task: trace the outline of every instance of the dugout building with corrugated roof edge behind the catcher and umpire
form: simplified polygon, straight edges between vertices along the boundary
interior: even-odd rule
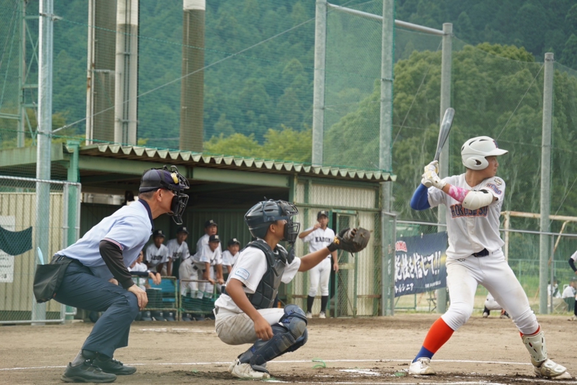
[[[187,242],[191,253],[195,252],[196,242],[204,234],[207,219],[218,223],[223,247],[233,237],[243,245],[249,242],[250,233],[243,215],[265,197],[283,199],[297,205],[297,221],[301,223],[301,231],[313,226],[319,210],[329,210],[329,227],[336,231],[348,226],[362,226],[372,231],[369,247],[356,258],[348,253],[339,253],[341,270],[336,276],[333,273],[331,278],[329,312],[337,317],[382,314],[381,264],[385,249],[382,247],[382,227],[385,214],[381,210],[380,196],[383,182],[394,181],[394,175],[139,146],[52,143],[52,175],[68,175],[71,182],[80,182],[82,196],[124,196],[127,191],[137,196],[143,170],[164,165],[177,166],[190,182],[187,191],[190,200],[183,221],[190,230]],[[0,151],[0,175],[15,175],[15,169],[18,170],[17,175],[34,177],[36,147]],[[6,184],[6,181],[2,183]],[[33,206],[33,201],[33,196],[22,196],[14,189],[0,192],[2,215],[13,215],[16,228],[19,228],[18,222],[21,222],[20,227],[34,224],[34,210],[21,209]],[[65,242],[62,233],[71,227],[65,217],[57,214],[59,205],[64,201],[66,197],[62,189],[53,189],[50,255],[62,248]],[[78,235],[82,236],[118,208],[119,205],[80,203]],[[168,235],[166,242],[174,237],[177,225],[171,217],[163,215],[155,220],[155,228],[161,228]],[[32,228],[32,231],[35,229]],[[308,246],[297,240],[297,256],[307,252]],[[3,293],[0,298],[0,321],[14,317],[15,312],[24,314],[22,317],[26,319],[25,313],[29,312],[33,301],[31,279],[34,275],[34,255],[31,250],[15,256],[13,282],[0,282],[0,292]],[[283,302],[306,307],[306,273],[297,275],[289,285],[283,284],[280,290]],[[316,300],[313,314],[318,313],[319,306],[320,300]]]

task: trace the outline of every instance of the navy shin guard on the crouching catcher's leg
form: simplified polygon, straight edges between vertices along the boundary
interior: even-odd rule
[[[306,343],[306,322],[306,315],[300,307],[287,305],[279,324],[271,326],[273,337],[268,341],[257,340],[250,349],[238,356],[239,361],[250,363],[254,370],[266,372],[266,362],[288,351],[295,351]]]

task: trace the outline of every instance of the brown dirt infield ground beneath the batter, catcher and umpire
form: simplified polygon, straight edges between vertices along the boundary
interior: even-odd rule
[[[508,319],[473,315],[434,357],[434,377],[406,374],[436,314],[371,319],[312,319],[308,343],[269,363],[274,380],[290,384],[527,384],[527,350]],[[550,358],[577,375],[577,323],[567,316],[539,317]],[[64,365],[92,324],[0,326],[0,384],[57,384]],[[116,384],[247,384],[227,372],[248,345],[218,339],[213,321],[135,322],[129,347],[115,358],[138,365]],[[315,361],[313,361],[315,360]],[[324,368],[323,368],[324,366]],[[539,381],[541,384],[577,384]]]

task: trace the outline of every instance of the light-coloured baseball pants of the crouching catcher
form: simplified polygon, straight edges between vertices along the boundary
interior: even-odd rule
[[[285,310],[278,307],[261,309],[257,312],[266,319],[269,325],[278,324],[278,321],[285,314]],[[215,329],[216,335],[225,344],[253,344],[258,340],[255,323],[245,313],[233,313],[219,309],[215,317]]]

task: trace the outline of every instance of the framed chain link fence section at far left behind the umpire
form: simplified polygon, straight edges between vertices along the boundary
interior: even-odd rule
[[[0,324],[64,321],[66,307],[36,304],[32,286],[36,264],[77,239],[79,208],[78,183],[0,175]]]

